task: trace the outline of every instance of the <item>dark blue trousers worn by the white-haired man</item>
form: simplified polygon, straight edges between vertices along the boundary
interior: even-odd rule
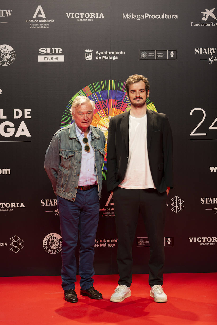
[[[60,212],[60,228],[62,235],[62,288],[75,289],[76,258],[75,248],[80,240],[79,275],[80,287],[83,290],[93,285],[93,259],[96,231],[99,221],[98,188],[87,191],[77,190],[75,201],[57,196],[57,208]]]

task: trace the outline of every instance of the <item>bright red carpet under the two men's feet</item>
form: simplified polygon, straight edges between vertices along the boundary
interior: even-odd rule
[[[78,303],[63,299],[61,277],[2,277],[1,325],[152,324],[216,325],[217,279],[215,273],[165,274],[167,303],[149,296],[147,274],[133,275],[131,297],[111,303],[117,275],[97,275],[94,287],[102,300],[80,296],[79,277],[75,291]]]

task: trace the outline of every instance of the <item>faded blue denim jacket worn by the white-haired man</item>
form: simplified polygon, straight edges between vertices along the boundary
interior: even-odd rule
[[[90,144],[94,150],[99,199],[102,190],[102,164],[105,155],[105,136],[101,129],[91,125]],[[45,156],[45,170],[54,193],[75,201],[81,168],[82,146],[75,132],[75,123],[55,133]]]

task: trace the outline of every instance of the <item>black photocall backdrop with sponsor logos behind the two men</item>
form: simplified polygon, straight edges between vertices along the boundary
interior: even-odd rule
[[[166,113],[173,131],[175,188],[167,200],[164,271],[216,271],[214,8],[213,0],[1,1],[1,276],[60,274],[61,232],[44,171],[46,149],[71,123],[69,105],[78,94],[95,100],[93,123],[107,135],[110,116],[129,109],[124,83],[133,73],[148,77],[149,109]],[[95,273],[115,274],[115,209],[105,180],[100,209]],[[133,273],[148,273],[148,245],[140,218]]]

